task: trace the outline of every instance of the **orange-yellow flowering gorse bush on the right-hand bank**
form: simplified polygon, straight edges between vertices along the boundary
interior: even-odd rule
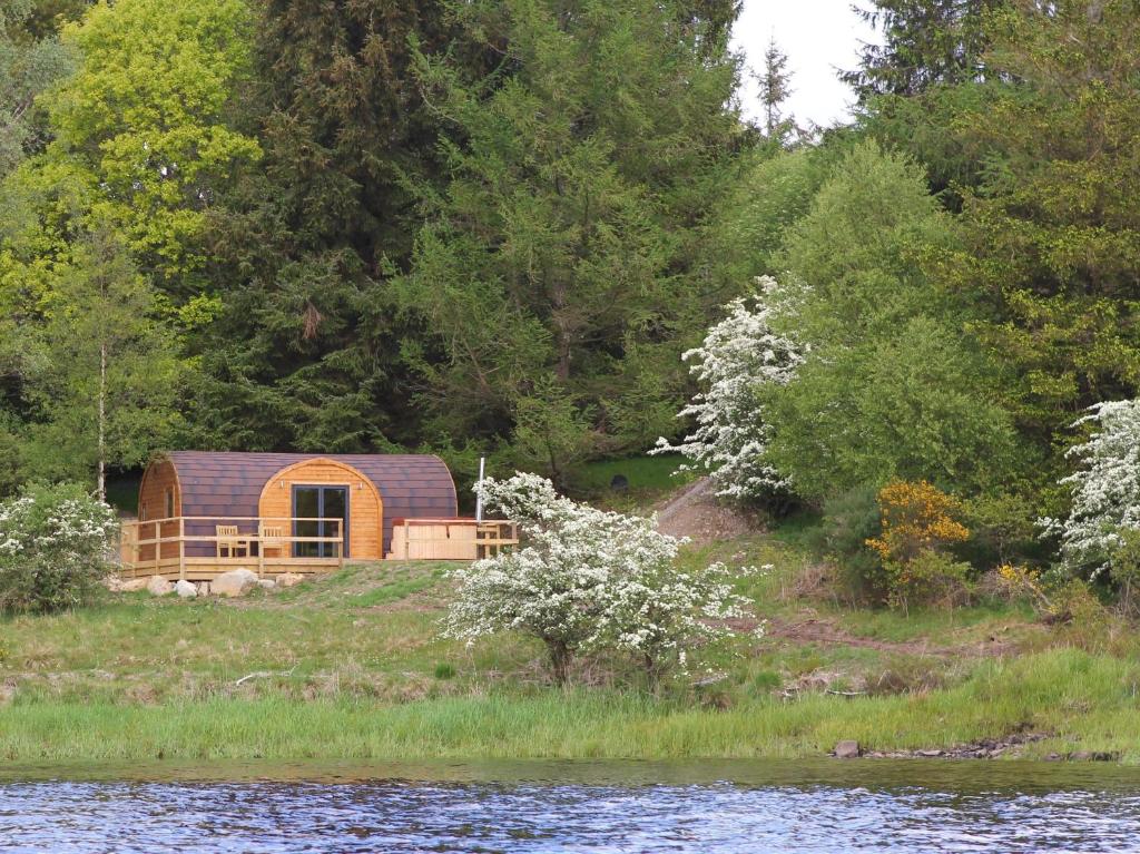
[[[969,529],[954,517],[961,503],[925,480],[895,480],[879,490],[882,529],[866,540],[888,563],[905,563],[922,552],[961,543]]]

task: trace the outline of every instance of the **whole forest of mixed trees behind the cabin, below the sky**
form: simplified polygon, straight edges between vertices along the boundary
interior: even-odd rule
[[[775,513],[925,483],[993,563],[1069,517],[1096,569],[1140,6],[865,6],[855,116],[805,128],[776,44],[746,119],[734,0],[6,0],[0,496],[190,447],[573,491],[658,446]]]

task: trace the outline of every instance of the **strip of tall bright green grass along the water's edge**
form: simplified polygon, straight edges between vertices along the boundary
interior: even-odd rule
[[[0,710],[8,761],[213,758],[697,758],[820,756],[841,739],[869,748],[945,747],[1048,732],[1031,755],[1114,750],[1140,762],[1140,665],[1052,650],[977,666],[925,694],[807,694],[728,710],[646,694],[544,690],[402,705],[365,700],[209,699],[163,706],[16,702]]]

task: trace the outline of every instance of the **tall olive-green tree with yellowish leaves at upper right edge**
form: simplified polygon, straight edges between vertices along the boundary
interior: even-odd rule
[[[984,169],[963,244],[928,268],[984,308],[974,328],[1015,371],[999,388],[1048,480],[1074,413],[1140,383],[1135,19],[1123,0],[1010,3],[990,22],[987,97],[943,127]]]

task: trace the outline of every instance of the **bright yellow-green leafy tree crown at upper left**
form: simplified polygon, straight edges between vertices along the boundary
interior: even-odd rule
[[[106,223],[171,295],[203,288],[204,211],[234,164],[259,153],[226,123],[249,25],[241,0],[123,0],[64,27],[80,63],[42,99],[55,139],[9,190],[30,209],[13,236],[15,275],[66,261],[71,235]]]

